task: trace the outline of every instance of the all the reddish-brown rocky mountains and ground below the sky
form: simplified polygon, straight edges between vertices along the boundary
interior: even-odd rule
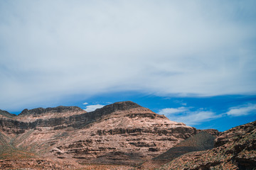
[[[256,121],[196,130],[131,101],[0,111],[0,169],[254,169],[255,146]]]

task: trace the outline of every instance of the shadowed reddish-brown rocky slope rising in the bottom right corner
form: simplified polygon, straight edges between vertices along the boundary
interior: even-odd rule
[[[214,145],[207,151],[183,154],[160,169],[255,169],[256,121],[221,133]]]

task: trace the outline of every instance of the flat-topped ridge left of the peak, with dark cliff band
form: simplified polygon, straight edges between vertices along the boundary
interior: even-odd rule
[[[86,111],[75,106],[25,109],[15,117],[5,116],[0,118],[0,130],[9,135],[19,135],[26,132],[26,130],[43,127],[53,129],[79,127],[90,120],[90,115],[82,116],[85,113]]]

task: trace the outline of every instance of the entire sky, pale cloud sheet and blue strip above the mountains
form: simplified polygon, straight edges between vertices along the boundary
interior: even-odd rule
[[[228,130],[256,119],[256,1],[0,1],[0,109],[134,101]]]

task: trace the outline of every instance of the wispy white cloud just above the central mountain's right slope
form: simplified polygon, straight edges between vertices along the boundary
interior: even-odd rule
[[[216,115],[212,111],[204,111],[199,108],[197,111],[191,111],[190,108],[164,108],[159,111],[159,114],[166,115],[172,121],[185,123],[186,125],[198,125],[215,118],[220,118],[222,115]]]

